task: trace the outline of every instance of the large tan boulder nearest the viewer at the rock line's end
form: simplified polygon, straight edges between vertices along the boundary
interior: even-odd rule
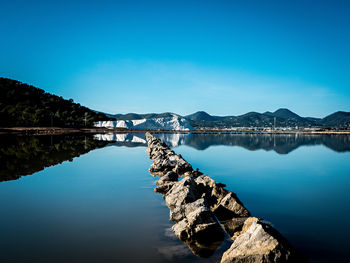
[[[233,239],[221,263],[305,262],[281,234],[256,217],[248,218]]]

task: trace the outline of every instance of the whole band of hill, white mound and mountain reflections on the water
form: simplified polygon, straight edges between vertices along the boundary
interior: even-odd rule
[[[240,146],[247,150],[288,154],[300,146],[324,145],[336,152],[350,151],[350,135],[306,134],[155,134],[170,147],[187,145],[205,150],[215,145]],[[16,180],[45,167],[71,161],[74,157],[106,145],[146,147],[145,133],[0,136],[0,182]]]

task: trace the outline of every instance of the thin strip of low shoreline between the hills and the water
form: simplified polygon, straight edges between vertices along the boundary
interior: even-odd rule
[[[75,134],[75,133],[135,133],[135,132],[151,132],[151,133],[180,133],[180,134],[310,134],[310,135],[322,135],[322,134],[337,134],[337,135],[350,135],[350,130],[326,130],[326,131],[305,131],[305,130],[272,130],[272,131],[260,131],[260,130],[136,130],[136,129],[109,129],[109,128],[68,128],[68,127],[0,127],[0,135],[14,134],[14,135],[62,135],[62,134]]]

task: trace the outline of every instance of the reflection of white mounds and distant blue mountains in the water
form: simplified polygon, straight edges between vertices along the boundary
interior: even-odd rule
[[[213,145],[240,146],[247,150],[274,150],[287,154],[300,146],[324,145],[337,152],[350,151],[350,135],[317,134],[155,134],[170,147],[188,145],[197,150],[205,150]],[[96,139],[115,141],[117,146],[146,146],[145,134],[104,134]]]

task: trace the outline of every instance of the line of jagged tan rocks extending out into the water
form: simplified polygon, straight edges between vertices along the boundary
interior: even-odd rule
[[[305,259],[269,224],[250,212],[224,184],[203,175],[160,139],[146,133],[150,173],[160,177],[155,192],[170,209],[172,229],[191,251],[211,256],[223,240],[233,243],[221,263],[305,262]]]

